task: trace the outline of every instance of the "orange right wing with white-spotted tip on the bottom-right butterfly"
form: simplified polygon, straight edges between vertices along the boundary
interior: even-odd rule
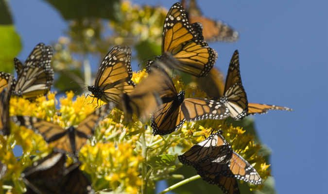
[[[256,185],[262,183],[262,178],[255,168],[236,152],[233,152],[231,157],[230,170],[235,178]]]

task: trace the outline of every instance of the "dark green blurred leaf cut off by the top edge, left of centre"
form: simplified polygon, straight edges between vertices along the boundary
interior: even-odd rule
[[[122,21],[120,0],[45,0],[66,19],[101,17]]]

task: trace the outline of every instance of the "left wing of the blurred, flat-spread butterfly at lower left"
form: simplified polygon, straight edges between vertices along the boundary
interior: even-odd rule
[[[69,154],[75,153],[75,139],[74,136],[70,134],[69,129],[63,129],[58,125],[36,117],[13,116],[12,120],[18,126],[24,126],[34,130],[36,133],[40,133],[44,140],[49,145],[53,146],[54,150],[60,152],[64,151]]]

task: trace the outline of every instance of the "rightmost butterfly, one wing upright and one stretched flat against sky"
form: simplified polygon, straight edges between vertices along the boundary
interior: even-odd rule
[[[242,86],[238,50],[232,55],[225,79],[224,96],[220,98],[220,102],[228,107],[230,116],[235,120],[241,120],[247,115],[255,113],[267,113],[268,110],[293,111],[287,107],[248,103],[246,92]]]

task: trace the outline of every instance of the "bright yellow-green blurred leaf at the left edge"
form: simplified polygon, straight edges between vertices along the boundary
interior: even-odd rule
[[[11,73],[14,57],[21,49],[20,37],[14,25],[0,25],[0,71]]]

